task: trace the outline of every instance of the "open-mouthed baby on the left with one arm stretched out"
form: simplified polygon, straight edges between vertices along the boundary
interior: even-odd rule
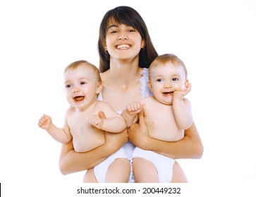
[[[99,70],[87,61],[75,61],[64,70],[64,88],[68,103],[62,128],[56,127],[49,115],[43,115],[38,122],[56,141],[67,144],[73,140],[76,152],[90,151],[105,143],[105,132],[123,132],[126,122],[121,115],[104,101],[97,101],[102,91]],[[106,118],[99,117],[104,113]],[[108,171],[114,163],[115,169]],[[120,168],[120,169],[118,169]],[[95,166],[98,182],[128,182],[130,162],[126,151],[119,149],[114,155]],[[122,171],[122,174],[115,173]],[[106,176],[106,174],[108,174]]]

